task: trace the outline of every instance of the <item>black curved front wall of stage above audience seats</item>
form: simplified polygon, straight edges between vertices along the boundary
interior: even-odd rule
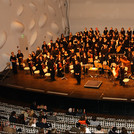
[[[85,108],[89,113],[134,116],[134,103],[68,98],[42,93],[0,87],[0,99],[17,105],[30,106],[33,101],[46,104],[52,109],[67,110],[69,107]]]

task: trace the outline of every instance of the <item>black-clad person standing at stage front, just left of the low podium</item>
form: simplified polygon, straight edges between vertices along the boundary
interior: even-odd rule
[[[77,85],[80,85],[81,84],[81,65],[77,60],[75,61],[75,65],[74,65],[74,75],[77,80]]]

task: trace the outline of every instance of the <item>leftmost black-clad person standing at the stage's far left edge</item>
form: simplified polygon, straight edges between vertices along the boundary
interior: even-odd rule
[[[11,52],[10,61],[12,62],[13,73],[17,74],[17,64],[16,64],[17,58],[14,55],[14,52]]]

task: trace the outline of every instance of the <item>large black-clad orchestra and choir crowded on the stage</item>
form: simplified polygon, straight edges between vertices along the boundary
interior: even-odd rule
[[[10,58],[14,72],[17,72],[16,58],[19,68],[22,69],[24,61],[20,50],[17,57],[12,53]],[[73,65],[78,84],[81,81],[81,71],[84,75],[88,75],[88,64],[95,66],[97,62],[102,65],[102,74],[104,73],[103,65],[109,66],[109,74],[119,79],[120,85],[123,85],[125,75],[134,74],[134,34],[130,28],[125,32],[124,28],[118,31],[117,28],[111,27],[108,30],[105,27],[102,35],[98,28],[95,31],[92,28],[89,31],[85,28],[83,32],[77,32],[75,35],[70,33],[65,37],[62,34],[61,38],[57,38],[55,42],[50,40],[47,44],[43,41],[41,49],[37,47],[36,52],[32,51],[26,61],[31,75],[33,75],[33,66],[40,71],[41,77],[44,77],[46,73],[44,69],[47,68],[52,81],[56,80],[56,73],[58,77],[63,77],[70,72],[69,66]]]

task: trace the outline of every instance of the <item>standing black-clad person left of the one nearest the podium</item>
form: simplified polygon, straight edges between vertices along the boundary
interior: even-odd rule
[[[48,72],[51,73],[51,81],[55,81],[55,63],[54,63],[54,59],[53,56],[50,56],[50,59],[48,60]]]

